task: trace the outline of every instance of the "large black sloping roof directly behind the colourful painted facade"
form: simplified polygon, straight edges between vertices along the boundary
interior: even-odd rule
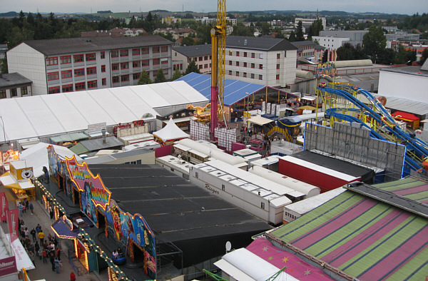
[[[267,223],[159,165],[89,165],[122,210],[165,242],[270,229]]]

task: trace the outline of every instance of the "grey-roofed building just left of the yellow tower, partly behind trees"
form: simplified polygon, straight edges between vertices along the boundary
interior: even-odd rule
[[[185,71],[190,61],[195,61],[200,73],[211,73],[211,44],[173,47],[174,70]]]

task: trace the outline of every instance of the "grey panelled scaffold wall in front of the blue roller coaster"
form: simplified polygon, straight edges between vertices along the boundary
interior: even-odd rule
[[[384,170],[385,182],[402,178],[406,146],[371,138],[364,128],[337,122],[333,128],[306,123],[304,149]]]

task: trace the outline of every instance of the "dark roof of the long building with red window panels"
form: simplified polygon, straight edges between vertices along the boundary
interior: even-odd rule
[[[87,51],[115,50],[119,48],[135,48],[141,46],[172,45],[173,42],[162,36],[134,36],[134,37],[82,37],[67,39],[46,39],[24,41],[46,56],[61,53],[78,53]]]

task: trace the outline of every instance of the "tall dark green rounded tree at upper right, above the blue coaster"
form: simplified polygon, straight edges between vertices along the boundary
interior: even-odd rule
[[[373,63],[377,62],[377,56],[387,46],[382,26],[370,26],[369,32],[362,38],[362,44],[367,56],[370,56]]]

